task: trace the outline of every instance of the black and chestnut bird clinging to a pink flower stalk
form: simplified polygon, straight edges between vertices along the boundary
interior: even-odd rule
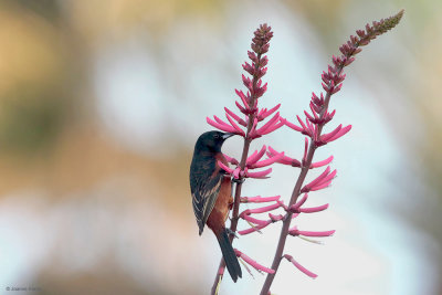
[[[228,166],[221,147],[233,135],[215,130],[203,133],[194,145],[189,178],[199,235],[204,224],[213,231],[229,274],[236,282],[238,277],[242,277],[241,266],[225,229],[225,220],[233,204],[232,185],[230,176],[218,165],[221,161]]]

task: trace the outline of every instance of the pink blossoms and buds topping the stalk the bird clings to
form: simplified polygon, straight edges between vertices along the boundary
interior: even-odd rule
[[[242,113],[241,115],[235,114],[231,109],[224,107],[225,118],[228,122],[220,119],[217,116],[213,116],[213,119],[207,118],[207,122],[213,127],[227,131],[240,135],[244,137],[244,140],[249,144],[263,135],[267,135],[284,125],[281,122],[280,113],[274,114],[281,106],[281,104],[274,106],[271,109],[267,108],[259,108],[259,98],[263,96],[263,94],[267,89],[267,83],[262,85],[262,77],[267,72],[267,56],[263,56],[264,53],[269,51],[270,43],[269,41],[272,39],[273,32],[271,32],[271,28],[266,24],[263,24],[257,29],[254,33],[252,50],[249,51],[249,59],[252,64],[245,62],[242,66],[245,72],[248,72],[252,77],[246,77],[242,75],[242,82],[244,86],[248,88],[248,92],[244,94],[243,91],[238,91],[236,95],[240,98],[240,102],[235,102],[238,109]],[[274,114],[274,115],[273,115]],[[272,116],[273,115],[273,116]],[[242,117],[241,117],[242,116]],[[271,117],[272,116],[272,117]],[[271,117],[263,126],[259,126],[260,123]],[[245,129],[245,130],[244,130]],[[232,157],[227,155],[227,160],[236,166],[236,168],[231,169],[219,162],[219,165],[229,173],[231,173],[235,179],[243,178],[265,178],[271,171],[272,168],[262,171],[251,171],[256,168],[267,167],[277,160],[280,160],[284,154],[273,155],[269,159],[261,160],[265,155],[266,147],[263,146],[260,151],[255,150],[251,156],[249,156],[243,165]]]

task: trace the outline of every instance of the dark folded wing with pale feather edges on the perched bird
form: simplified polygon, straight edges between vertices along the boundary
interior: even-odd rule
[[[220,193],[223,173],[214,172],[209,178],[193,179],[192,204],[194,217],[197,218],[200,234],[204,229],[204,224],[212,212],[218,194]]]

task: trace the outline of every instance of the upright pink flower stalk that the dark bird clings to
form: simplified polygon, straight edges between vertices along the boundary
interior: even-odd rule
[[[281,105],[276,105],[275,107],[267,109],[267,108],[259,108],[257,103],[259,98],[265,93],[267,89],[267,84],[262,83],[262,77],[265,75],[267,67],[266,64],[269,62],[267,56],[264,54],[269,51],[270,48],[270,40],[273,36],[273,32],[271,31],[271,27],[267,24],[262,24],[260,28],[254,32],[254,38],[252,39],[252,51],[248,52],[249,59],[251,60],[251,64],[245,62],[243,64],[243,70],[248,72],[251,77],[246,77],[242,75],[242,81],[244,86],[246,87],[248,92],[244,93],[243,91],[235,89],[236,95],[240,98],[240,102],[235,102],[236,107],[243,114],[244,118],[241,118],[240,115],[235,114],[229,108],[224,108],[225,117],[229,123],[223,122],[222,119],[214,116],[214,119],[207,118],[207,122],[215,128],[219,128],[223,131],[233,133],[240,135],[244,138],[241,160],[238,161],[232,157],[225,157],[227,160],[235,165],[235,168],[227,167],[222,165],[222,162],[218,162],[222,169],[224,169],[228,173],[232,176],[233,181],[236,183],[234,188],[234,201],[233,201],[233,212],[231,218],[230,231],[232,233],[236,232],[238,221],[240,219],[240,203],[242,200],[241,198],[241,190],[242,183],[246,178],[266,178],[267,175],[272,171],[272,168],[267,168],[262,171],[251,171],[256,168],[264,168],[267,167],[275,161],[280,160],[283,155],[273,155],[269,159],[261,160],[260,159],[265,155],[266,147],[262,147],[260,151],[253,152],[249,157],[249,149],[250,145],[253,139],[262,137],[263,135],[270,134],[278,128],[281,128],[284,124],[280,120],[280,113],[273,115]],[[259,127],[259,123],[263,122],[264,119],[272,116],[263,126]],[[241,127],[246,127],[245,131]],[[255,199],[257,201],[259,199]],[[242,218],[249,219],[251,223],[259,222],[256,219],[250,218],[250,214],[242,213]],[[261,225],[263,225],[262,222]],[[233,242],[233,234],[230,235],[230,241]],[[238,251],[238,250],[236,250]],[[240,257],[242,257],[245,262],[250,262],[250,259],[245,256],[242,252]],[[253,266],[253,265],[252,265]],[[217,294],[219,289],[219,284],[222,281],[223,270],[225,267],[224,260],[221,259],[219,270],[217,272],[213,286],[211,289],[211,294]],[[265,266],[263,266],[265,267]]]

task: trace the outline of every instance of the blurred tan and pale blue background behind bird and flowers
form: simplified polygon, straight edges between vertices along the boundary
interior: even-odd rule
[[[330,208],[295,220],[337,232],[286,245],[319,276],[283,262],[272,292],[442,294],[436,0],[0,1],[0,294],[208,294],[221,254],[209,231],[198,236],[188,169],[206,116],[234,107],[253,31],[274,31],[260,104],[293,120],[338,46],[401,8],[333,97],[334,124],[352,129],[318,150],[338,178],[308,200]],[[224,151],[239,157],[241,144]],[[303,150],[288,128],[253,148],[263,144]],[[287,200],[297,173],[275,167],[244,196]],[[280,226],[235,244],[270,265]],[[243,272],[220,293],[257,294],[265,276]]]

